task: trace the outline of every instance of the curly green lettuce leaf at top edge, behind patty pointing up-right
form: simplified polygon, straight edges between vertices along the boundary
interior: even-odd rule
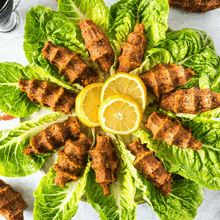
[[[135,25],[146,22],[147,48],[150,49],[165,39],[168,13],[169,5],[166,0],[120,0],[111,6],[108,38],[116,55],[111,74],[115,73],[121,44],[126,42]],[[150,65],[148,61],[146,65]]]

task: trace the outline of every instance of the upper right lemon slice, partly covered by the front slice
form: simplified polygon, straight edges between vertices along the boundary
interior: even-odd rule
[[[147,89],[140,77],[128,73],[118,73],[108,78],[102,87],[101,102],[116,94],[133,98],[144,111],[147,104]]]

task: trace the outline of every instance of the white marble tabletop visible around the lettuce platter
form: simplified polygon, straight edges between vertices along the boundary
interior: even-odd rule
[[[106,0],[107,5],[116,2],[116,0]],[[21,0],[18,8],[21,22],[20,26],[13,32],[3,34],[0,33],[0,62],[10,61],[18,62],[23,65],[28,64],[23,52],[23,28],[25,14],[28,9],[34,5],[43,5],[57,9],[55,0]],[[169,15],[169,27],[173,30],[185,27],[197,28],[205,30],[212,36],[217,53],[220,55],[220,9],[208,12],[206,14],[186,13],[182,10],[172,9]],[[0,122],[0,130],[5,128],[13,128],[18,120],[11,122]],[[22,192],[24,199],[28,202],[29,207],[25,210],[25,220],[33,220],[33,192],[35,191],[43,174],[39,171],[36,174],[25,178],[5,178],[4,181],[12,184],[13,188]],[[220,191],[211,191],[204,189],[204,202],[198,209],[196,220],[220,220]],[[0,220],[3,220],[0,216]],[[96,211],[87,203],[80,202],[75,220],[96,220],[99,219]],[[139,205],[137,208],[138,220],[158,220],[147,204]],[[42,219],[43,220],[43,219]],[[178,220],[178,219],[177,219]]]

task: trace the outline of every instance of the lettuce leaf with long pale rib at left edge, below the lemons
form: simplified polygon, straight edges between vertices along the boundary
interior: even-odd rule
[[[25,156],[22,151],[30,139],[46,127],[63,122],[68,115],[52,113],[41,118],[20,123],[13,130],[0,132],[0,175],[6,177],[24,177],[37,172],[46,159],[46,156]]]

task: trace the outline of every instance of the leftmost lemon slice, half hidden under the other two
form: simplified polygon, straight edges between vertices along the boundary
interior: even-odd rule
[[[76,97],[76,114],[88,127],[99,126],[98,109],[103,83],[93,83],[81,90]]]

